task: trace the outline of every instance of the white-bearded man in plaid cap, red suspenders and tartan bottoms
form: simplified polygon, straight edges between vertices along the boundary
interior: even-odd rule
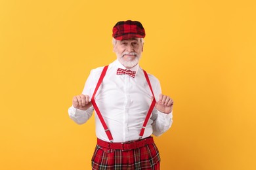
[[[139,67],[144,27],[127,20],[113,27],[117,59],[93,69],[81,95],[68,110],[77,124],[95,110],[97,145],[92,169],[160,169],[160,155],[151,135],[172,124],[173,100],[161,94],[160,82]]]

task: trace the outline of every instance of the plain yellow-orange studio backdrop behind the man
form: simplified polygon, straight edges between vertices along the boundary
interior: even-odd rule
[[[0,169],[91,169],[94,118],[68,117],[112,27],[146,29],[140,66],[175,101],[161,169],[256,169],[256,3],[0,1]]]

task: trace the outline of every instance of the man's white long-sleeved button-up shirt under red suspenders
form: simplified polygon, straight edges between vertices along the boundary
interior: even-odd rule
[[[139,139],[142,124],[152,103],[152,92],[139,64],[131,69],[131,71],[137,72],[135,78],[129,75],[116,75],[118,68],[125,69],[117,60],[110,63],[102,84],[95,95],[96,105],[98,105],[98,109],[116,143]],[[82,93],[89,95],[90,101],[102,70],[103,67],[93,69],[85,83]],[[153,75],[148,74],[148,77],[156,101],[158,101],[161,93],[160,82]],[[84,124],[91,118],[93,110],[93,106],[87,110],[75,109],[72,106],[68,109],[68,113],[77,124]],[[172,118],[173,112],[164,114],[154,108],[142,138],[152,134],[159,136],[164,133],[171,127]],[[96,137],[103,141],[109,141],[96,114],[95,122]]]

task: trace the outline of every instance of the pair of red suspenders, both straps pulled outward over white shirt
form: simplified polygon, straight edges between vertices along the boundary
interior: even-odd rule
[[[108,129],[108,126],[106,126],[106,123],[100,113],[100,110],[98,109],[98,106],[96,105],[96,102],[95,102],[95,94],[96,92],[98,91],[98,88],[100,87],[100,84],[102,83],[102,80],[104,78],[104,76],[106,75],[106,71],[108,69],[108,65],[106,65],[100,75],[100,78],[98,79],[98,83],[96,84],[96,88],[95,88],[95,92],[93,93],[93,96],[91,97],[91,103],[93,104],[93,107],[95,108],[95,111],[96,111],[96,114],[98,115],[98,118],[100,119],[100,122],[102,124],[102,126],[104,127],[104,130],[106,132],[106,135],[108,136],[108,139],[110,140],[110,143],[113,142],[113,137],[110,133],[110,130]],[[144,70],[143,70],[144,71]],[[155,96],[154,96],[154,93],[153,93],[153,90],[152,90],[152,86],[150,84],[150,80],[148,78],[148,74],[146,73],[146,71],[144,71],[144,75],[146,77],[146,81],[148,82],[148,86],[150,87],[150,90],[152,92],[152,95],[154,97],[151,105],[150,105],[150,109],[148,110],[148,113],[146,114],[146,118],[144,120],[144,123],[143,123],[143,126],[142,126],[142,129],[140,131],[140,139],[142,138],[143,134],[144,134],[144,131],[145,131],[145,128],[146,128],[146,124],[148,123],[148,120],[150,118],[150,115],[152,113],[152,110],[154,109],[154,106],[156,104],[156,99],[155,99]]]

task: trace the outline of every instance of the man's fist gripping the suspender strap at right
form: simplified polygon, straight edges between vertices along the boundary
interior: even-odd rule
[[[158,111],[169,114],[173,110],[173,99],[167,95],[160,94],[155,107]]]

